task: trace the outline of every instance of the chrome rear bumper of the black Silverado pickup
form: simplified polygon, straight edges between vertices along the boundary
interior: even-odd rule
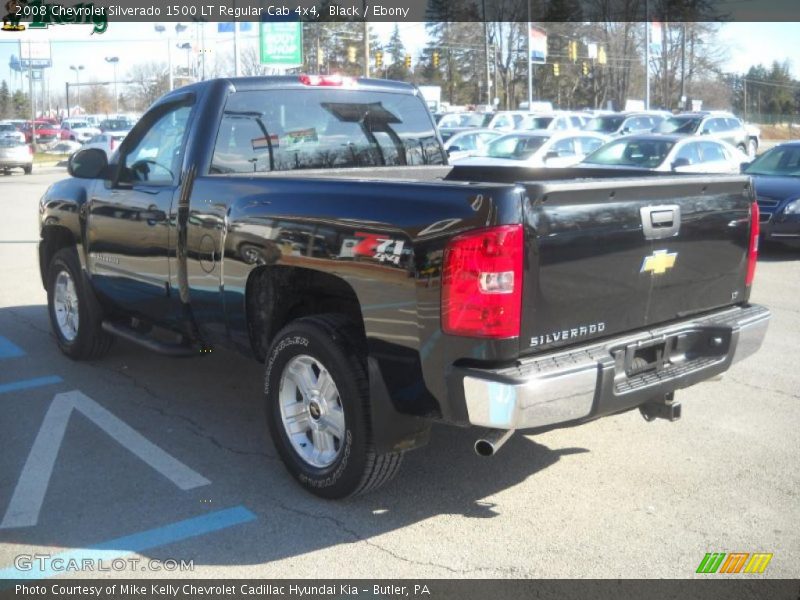
[[[770,313],[750,305],[717,311],[635,335],[554,352],[498,370],[454,368],[451,393],[469,422],[495,429],[578,424],[640,406],[726,371],[755,353]],[[657,371],[628,374],[626,353],[666,344]]]

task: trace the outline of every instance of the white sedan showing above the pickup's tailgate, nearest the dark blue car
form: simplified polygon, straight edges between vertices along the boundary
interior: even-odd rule
[[[710,138],[629,135],[608,142],[581,161],[582,167],[643,169],[675,173],[739,173],[747,155]]]

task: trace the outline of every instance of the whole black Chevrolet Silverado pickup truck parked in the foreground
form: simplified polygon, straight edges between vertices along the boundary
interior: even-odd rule
[[[450,167],[406,84],[295,76],[171,92],[41,200],[61,350],[115,337],[264,364],[314,494],[373,489],[434,421],[515,430],[639,408],[760,346],[748,177]]]

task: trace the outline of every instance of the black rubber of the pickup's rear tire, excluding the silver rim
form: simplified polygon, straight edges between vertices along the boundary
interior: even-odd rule
[[[358,339],[356,332],[341,315],[305,317],[278,332],[267,352],[264,392],[272,441],[292,477],[321,498],[344,498],[377,489],[397,474],[403,458],[402,452],[375,452],[366,360],[354,341]],[[325,467],[309,464],[295,450],[281,418],[284,369],[298,356],[311,357],[324,366],[336,385],[344,411],[346,433],[340,440],[337,457]]]

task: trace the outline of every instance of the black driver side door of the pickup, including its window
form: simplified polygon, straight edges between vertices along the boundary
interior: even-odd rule
[[[88,267],[96,288],[160,322],[177,306],[169,287],[171,221],[192,103],[187,96],[145,115],[120,148],[115,176],[94,186],[89,206]]]

